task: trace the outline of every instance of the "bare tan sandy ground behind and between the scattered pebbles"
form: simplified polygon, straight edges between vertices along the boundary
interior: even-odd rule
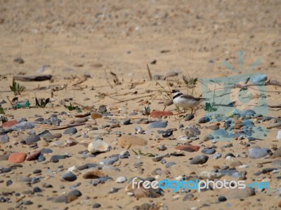
[[[34,94],[39,98],[53,98],[53,107],[45,109],[9,109],[9,103],[3,104],[8,120],[27,118],[28,121],[35,120],[40,115],[44,118],[51,116],[51,113],[67,111],[61,101],[72,98],[83,106],[91,106],[93,110],[105,104],[107,111],[115,116],[126,116],[132,111],[142,111],[145,102],[148,100],[151,110],[162,110],[164,106],[159,104],[164,99],[159,94],[161,88],[155,81],[150,81],[146,64],[149,64],[152,76],[166,76],[174,71],[178,76],[168,78],[169,82],[159,80],[166,90],[168,84],[174,87],[184,87],[182,76],[192,78],[215,78],[216,76],[235,75],[222,65],[227,60],[235,69],[239,69],[237,52],[244,50],[243,70],[250,66],[256,59],[261,59],[261,64],[253,69],[253,72],[265,73],[268,78],[281,80],[280,57],[281,57],[281,1],[3,1],[0,0],[0,91],[1,100],[6,102],[8,96],[13,98],[9,85],[13,76],[18,75],[40,75],[51,74],[51,81],[43,82],[22,82],[26,87],[19,97],[20,100],[29,99],[34,105]],[[18,64],[13,60],[21,57],[24,64]],[[156,64],[150,64],[157,60]],[[44,65],[43,73],[37,70]],[[105,71],[106,76],[105,76]],[[110,71],[116,73],[120,85],[115,85]],[[84,80],[84,74],[91,78]],[[242,71],[243,73],[243,71]],[[107,79],[106,79],[107,77]],[[81,82],[81,83],[79,83]],[[110,85],[112,87],[110,87]],[[52,88],[67,87],[52,94]],[[180,87],[179,87],[180,86]],[[40,87],[40,88],[39,88]],[[268,86],[268,104],[277,105],[281,103],[280,87]],[[279,88],[279,89],[278,89]],[[182,88],[182,90],[185,90]],[[196,87],[198,95],[201,94],[201,86]],[[137,92],[137,93],[136,93]],[[148,97],[148,95],[151,95]],[[86,100],[86,98],[89,98]],[[122,102],[122,100],[127,100]],[[63,102],[69,104],[69,102]],[[81,106],[80,106],[81,107]],[[176,113],[174,106],[166,108]],[[83,110],[84,112],[86,109]],[[70,115],[62,120],[74,120],[75,111],[67,111]],[[195,118],[189,122],[178,120],[178,116],[166,118],[167,128],[178,128],[183,125],[195,125],[199,118],[204,116],[204,110],[197,111]],[[268,116],[275,118],[281,116],[278,109],[269,109]],[[141,118],[141,113],[136,118]],[[149,118],[149,117],[148,117]],[[108,119],[95,120],[98,127],[108,124]],[[133,122],[136,122],[134,120]],[[93,121],[91,121],[93,123]],[[119,154],[122,149],[117,144],[116,130],[121,132],[134,133],[136,123],[121,126],[114,129],[110,134],[103,136],[113,150],[102,153],[95,158],[86,160],[79,158],[79,151],[85,151],[84,144],[77,144],[72,147],[51,147],[53,154],[72,154],[71,158],[61,160],[58,163],[46,162],[23,162],[21,168],[17,168],[11,174],[0,174],[3,182],[0,183],[2,195],[10,192],[9,197],[12,203],[2,203],[1,208],[15,207],[20,197],[14,193],[22,193],[25,190],[32,190],[33,186],[18,181],[21,177],[34,176],[34,169],[42,169],[39,176],[44,179],[35,186],[40,188],[44,183],[50,183],[53,188],[44,188],[39,195],[25,195],[22,200],[32,200],[34,204],[23,206],[27,209],[91,209],[94,203],[100,203],[101,209],[133,209],[144,203],[158,204],[162,209],[278,209],[280,196],[270,190],[256,193],[253,197],[245,200],[228,200],[217,203],[217,196],[222,195],[220,190],[209,190],[198,194],[194,193],[197,199],[183,202],[184,195],[172,193],[166,190],[163,197],[141,198],[126,195],[124,188],[126,183],[115,183],[110,181],[98,186],[91,186],[85,181],[79,172],[77,181],[81,186],[77,189],[83,194],[77,200],[68,204],[48,201],[48,197],[56,197],[68,193],[68,186],[74,183],[63,182],[61,179],[65,170],[72,166],[79,166],[85,163],[97,163],[105,157]],[[264,123],[266,126],[267,124]],[[143,125],[146,127],[146,125]],[[78,129],[79,128],[79,129]],[[79,133],[86,128],[77,127]],[[36,132],[44,130],[37,127]],[[143,134],[141,137],[148,140],[146,153],[158,153],[155,146],[164,144],[168,146],[167,153],[175,151],[174,146],[178,144],[177,137],[184,135],[184,132],[174,132],[174,139],[155,141],[157,129],[152,134]],[[257,146],[267,148],[280,148],[280,141],[276,141],[278,129],[274,128],[268,133],[265,141],[259,141]],[[51,131],[63,133],[63,130]],[[202,129],[200,139],[209,134],[209,130]],[[32,153],[33,149],[22,144],[14,144],[24,139],[26,132],[9,134],[10,142],[1,145],[1,154],[6,151]],[[63,135],[60,140],[67,140],[69,137]],[[76,139],[77,141],[91,142],[91,139]],[[200,140],[199,140],[200,141]],[[192,145],[198,145],[198,140]],[[220,142],[216,146],[223,146]],[[39,148],[44,148],[41,142]],[[211,146],[211,141],[204,143],[204,146]],[[49,147],[49,146],[47,146]],[[130,151],[130,150],[129,150]],[[238,143],[233,143],[232,148],[224,148],[226,153],[238,154],[247,151]],[[184,157],[170,157],[169,162],[176,162],[177,165],[166,169],[160,162],[152,162],[149,157],[134,155],[124,159],[118,166],[120,172],[109,172],[109,175],[116,179],[119,176],[126,176],[128,179],[134,176],[148,177],[151,172],[160,167],[166,170],[168,175],[161,179],[174,179],[183,174],[195,174],[213,169],[214,166],[229,165],[229,160],[224,158],[209,160],[204,165],[189,165],[189,158],[200,154],[185,153]],[[143,174],[133,167],[133,163],[141,160],[144,162]],[[247,168],[247,179],[252,179],[254,172],[259,171],[256,163],[266,160],[254,160],[249,158],[236,158]],[[1,161],[1,167],[11,165],[8,161]],[[62,168],[58,166],[63,165]],[[265,165],[265,167],[267,167]],[[47,172],[47,169],[48,170]],[[62,170],[64,169],[64,170]],[[280,174],[279,174],[280,175]],[[276,174],[264,174],[262,179],[270,180],[270,188],[280,188],[280,179]],[[6,181],[13,180],[13,185],[6,187]],[[62,188],[61,186],[64,186]],[[121,188],[118,193],[109,194],[112,187]],[[24,194],[22,194],[24,195]],[[204,207],[209,204],[209,207]]]

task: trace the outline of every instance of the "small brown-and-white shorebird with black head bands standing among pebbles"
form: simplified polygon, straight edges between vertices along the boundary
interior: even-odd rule
[[[193,113],[193,108],[198,106],[204,98],[195,98],[189,94],[183,94],[179,90],[171,90],[173,94],[173,103],[176,106],[182,107],[183,109],[191,109],[191,113]]]

